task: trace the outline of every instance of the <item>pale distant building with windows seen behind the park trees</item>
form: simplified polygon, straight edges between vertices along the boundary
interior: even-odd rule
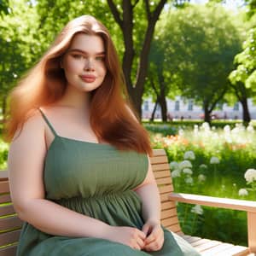
[[[166,99],[167,116],[169,119],[203,119],[204,111],[201,106],[195,105],[192,99],[185,100],[181,96],[176,96],[175,100]],[[256,119],[256,105],[251,99],[248,100],[248,108],[251,119]],[[154,102],[147,99],[143,102],[143,119],[150,119],[154,109]],[[158,104],[155,119],[161,118],[160,105]],[[234,106],[227,104],[218,104],[217,108],[212,111],[212,119],[242,119],[242,106],[236,102]]]

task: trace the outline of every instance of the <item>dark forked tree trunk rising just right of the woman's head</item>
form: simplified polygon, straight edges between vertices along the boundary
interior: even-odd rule
[[[122,63],[125,81],[131,102],[140,117],[150,44],[154,34],[154,26],[165,3],[166,0],[144,0],[143,3],[137,0],[132,4],[131,1],[123,0],[119,5],[118,3],[113,3],[113,0],[108,0],[114,20],[118,23],[123,34],[125,50]],[[136,9],[141,15],[136,15]],[[134,29],[134,20],[141,24],[138,19],[147,21],[144,32],[141,32],[141,29]],[[137,33],[138,31],[140,32],[139,34]],[[141,38],[140,41],[143,42],[139,49],[135,48],[134,38],[136,37]],[[136,70],[136,75],[134,75],[134,70]],[[135,77],[134,81],[132,81],[133,77]]]

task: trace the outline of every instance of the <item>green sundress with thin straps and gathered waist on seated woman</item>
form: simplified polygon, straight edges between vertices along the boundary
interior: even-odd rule
[[[44,162],[46,198],[107,224],[141,230],[142,201],[132,189],[146,177],[147,155],[58,136],[41,113],[55,135]],[[200,255],[181,237],[166,229],[164,234],[160,251],[145,252],[105,239],[52,236],[25,223],[17,256]]]

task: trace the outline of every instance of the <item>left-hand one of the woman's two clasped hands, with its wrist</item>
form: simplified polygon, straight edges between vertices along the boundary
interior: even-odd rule
[[[109,226],[106,236],[110,241],[116,241],[137,250],[143,249],[146,239],[142,230],[132,227]]]

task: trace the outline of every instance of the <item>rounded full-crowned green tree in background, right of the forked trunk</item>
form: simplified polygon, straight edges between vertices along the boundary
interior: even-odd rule
[[[165,70],[172,74],[182,96],[202,104],[207,122],[229,89],[227,78],[241,49],[231,19],[219,5],[189,6],[169,9],[156,30],[166,49]]]

